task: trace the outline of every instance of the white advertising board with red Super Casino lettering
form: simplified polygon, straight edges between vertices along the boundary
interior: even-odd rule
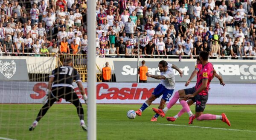
[[[158,83],[96,83],[96,103],[143,104],[157,85]],[[177,83],[174,92],[194,85],[195,83],[191,83],[185,87],[183,83]],[[79,88],[75,83],[74,86],[81,103],[84,103]],[[86,91],[87,84],[83,83],[83,86]],[[256,92],[253,92],[256,91],[256,84],[227,84],[222,87],[212,83],[210,87],[207,104],[256,104]],[[46,88],[46,82],[0,81],[0,103],[42,103]],[[157,98],[153,104],[159,104],[161,98],[162,96]],[[68,102],[60,99],[57,103]]]

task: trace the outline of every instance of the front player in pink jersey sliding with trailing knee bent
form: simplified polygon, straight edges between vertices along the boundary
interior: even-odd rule
[[[170,109],[179,98],[184,97],[184,99],[180,101],[180,104],[189,114],[189,124],[192,124],[193,120],[196,118],[197,120],[222,120],[223,122],[227,123],[228,126],[230,126],[230,122],[224,113],[222,113],[221,115],[203,114],[205,104],[208,100],[209,84],[212,78],[215,76],[212,63],[208,62],[208,57],[209,53],[207,53],[207,51],[201,51],[199,53],[199,58],[202,63],[202,70],[198,74],[195,92],[187,95],[184,92],[175,92],[175,95],[173,96],[172,100],[169,101],[166,108],[164,108],[163,110],[155,110],[157,114],[163,117],[165,115],[165,112],[167,112],[167,110]],[[189,98],[194,98],[196,102],[195,115],[192,114],[191,110],[189,109],[189,105],[186,103],[186,100],[188,100]]]

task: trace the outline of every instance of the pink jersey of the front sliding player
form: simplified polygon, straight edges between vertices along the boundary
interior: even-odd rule
[[[202,67],[197,77],[195,90],[198,90],[202,86],[204,79],[208,79],[207,88],[199,93],[199,95],[207,95],[210,82],[212,81],[212,78],[213,78],[213,65],[212,63],[208,62],[204,66],[203,65],[201,66]]]

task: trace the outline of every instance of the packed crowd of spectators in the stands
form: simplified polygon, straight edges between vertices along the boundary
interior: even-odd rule
[[[0,1],[3,55],[95,47],[98,57],[192,58],[206,50],[213,59],[256,59],[248,57],[256,55],[256,0],[95,0],[96,46],[87,46],[87,0]]]

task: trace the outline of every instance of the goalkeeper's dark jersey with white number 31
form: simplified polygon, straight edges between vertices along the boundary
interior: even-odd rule
[[[78,71],[70,66],[61,66],[52,70],[52,75],[49,77],[54,77],[52,87],[73,87],[73,81],[81,81]]]

